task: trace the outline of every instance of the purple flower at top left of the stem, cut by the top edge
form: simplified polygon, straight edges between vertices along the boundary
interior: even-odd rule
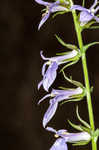
[[[46,12],[42,15],[42,20],[40,21],[38,29],[41,28],[41,26],[46,22],[46,20],[49,18],[51,13],[57,12],[57,11],[66,11],[67,8],[62,6],[60,1],[56,1],[53,3],[45,2],[43,0],[35,0],[38,4],[46,6]],[[68,4],[69,2],[64,1],[64,4]]]

